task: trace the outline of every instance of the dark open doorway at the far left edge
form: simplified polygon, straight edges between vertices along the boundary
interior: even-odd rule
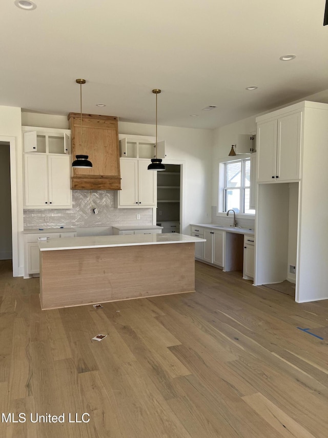
[[[12,260],[10,143],[0,141],[0,260]]]

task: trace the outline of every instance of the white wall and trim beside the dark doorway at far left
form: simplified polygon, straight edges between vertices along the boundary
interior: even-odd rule
[[[22,163],[22,119],[20,108],[0,106],[0,141],[15,145],[11,149],[12,225],[13,225],[13,275],[24,275],[23,245],[23,163]],[[14,157],[13,157],[14,156]]]

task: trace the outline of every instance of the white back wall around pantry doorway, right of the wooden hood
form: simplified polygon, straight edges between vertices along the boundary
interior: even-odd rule
[[[154,136],[155,126],[119,122],[120,134]],[[158,141],[166,142],[166,163],[182,164],[182,233],[190,223],[211,221],[213,131],[158,126]]]

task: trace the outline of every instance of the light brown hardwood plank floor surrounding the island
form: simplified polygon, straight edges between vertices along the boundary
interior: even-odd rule
[[[195,293],[42,311],[1,261],[0,295],[2,438],[328,436],[328,301],[199,262]]]

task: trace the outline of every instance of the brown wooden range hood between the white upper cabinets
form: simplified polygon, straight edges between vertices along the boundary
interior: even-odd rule
[[[68,115],[72,134],[72,159],[88,155],[92,167],[73,168],[74,190],[120,190],[119,144],[117,117]],[[81,141],[82,140],[82,141]]]

